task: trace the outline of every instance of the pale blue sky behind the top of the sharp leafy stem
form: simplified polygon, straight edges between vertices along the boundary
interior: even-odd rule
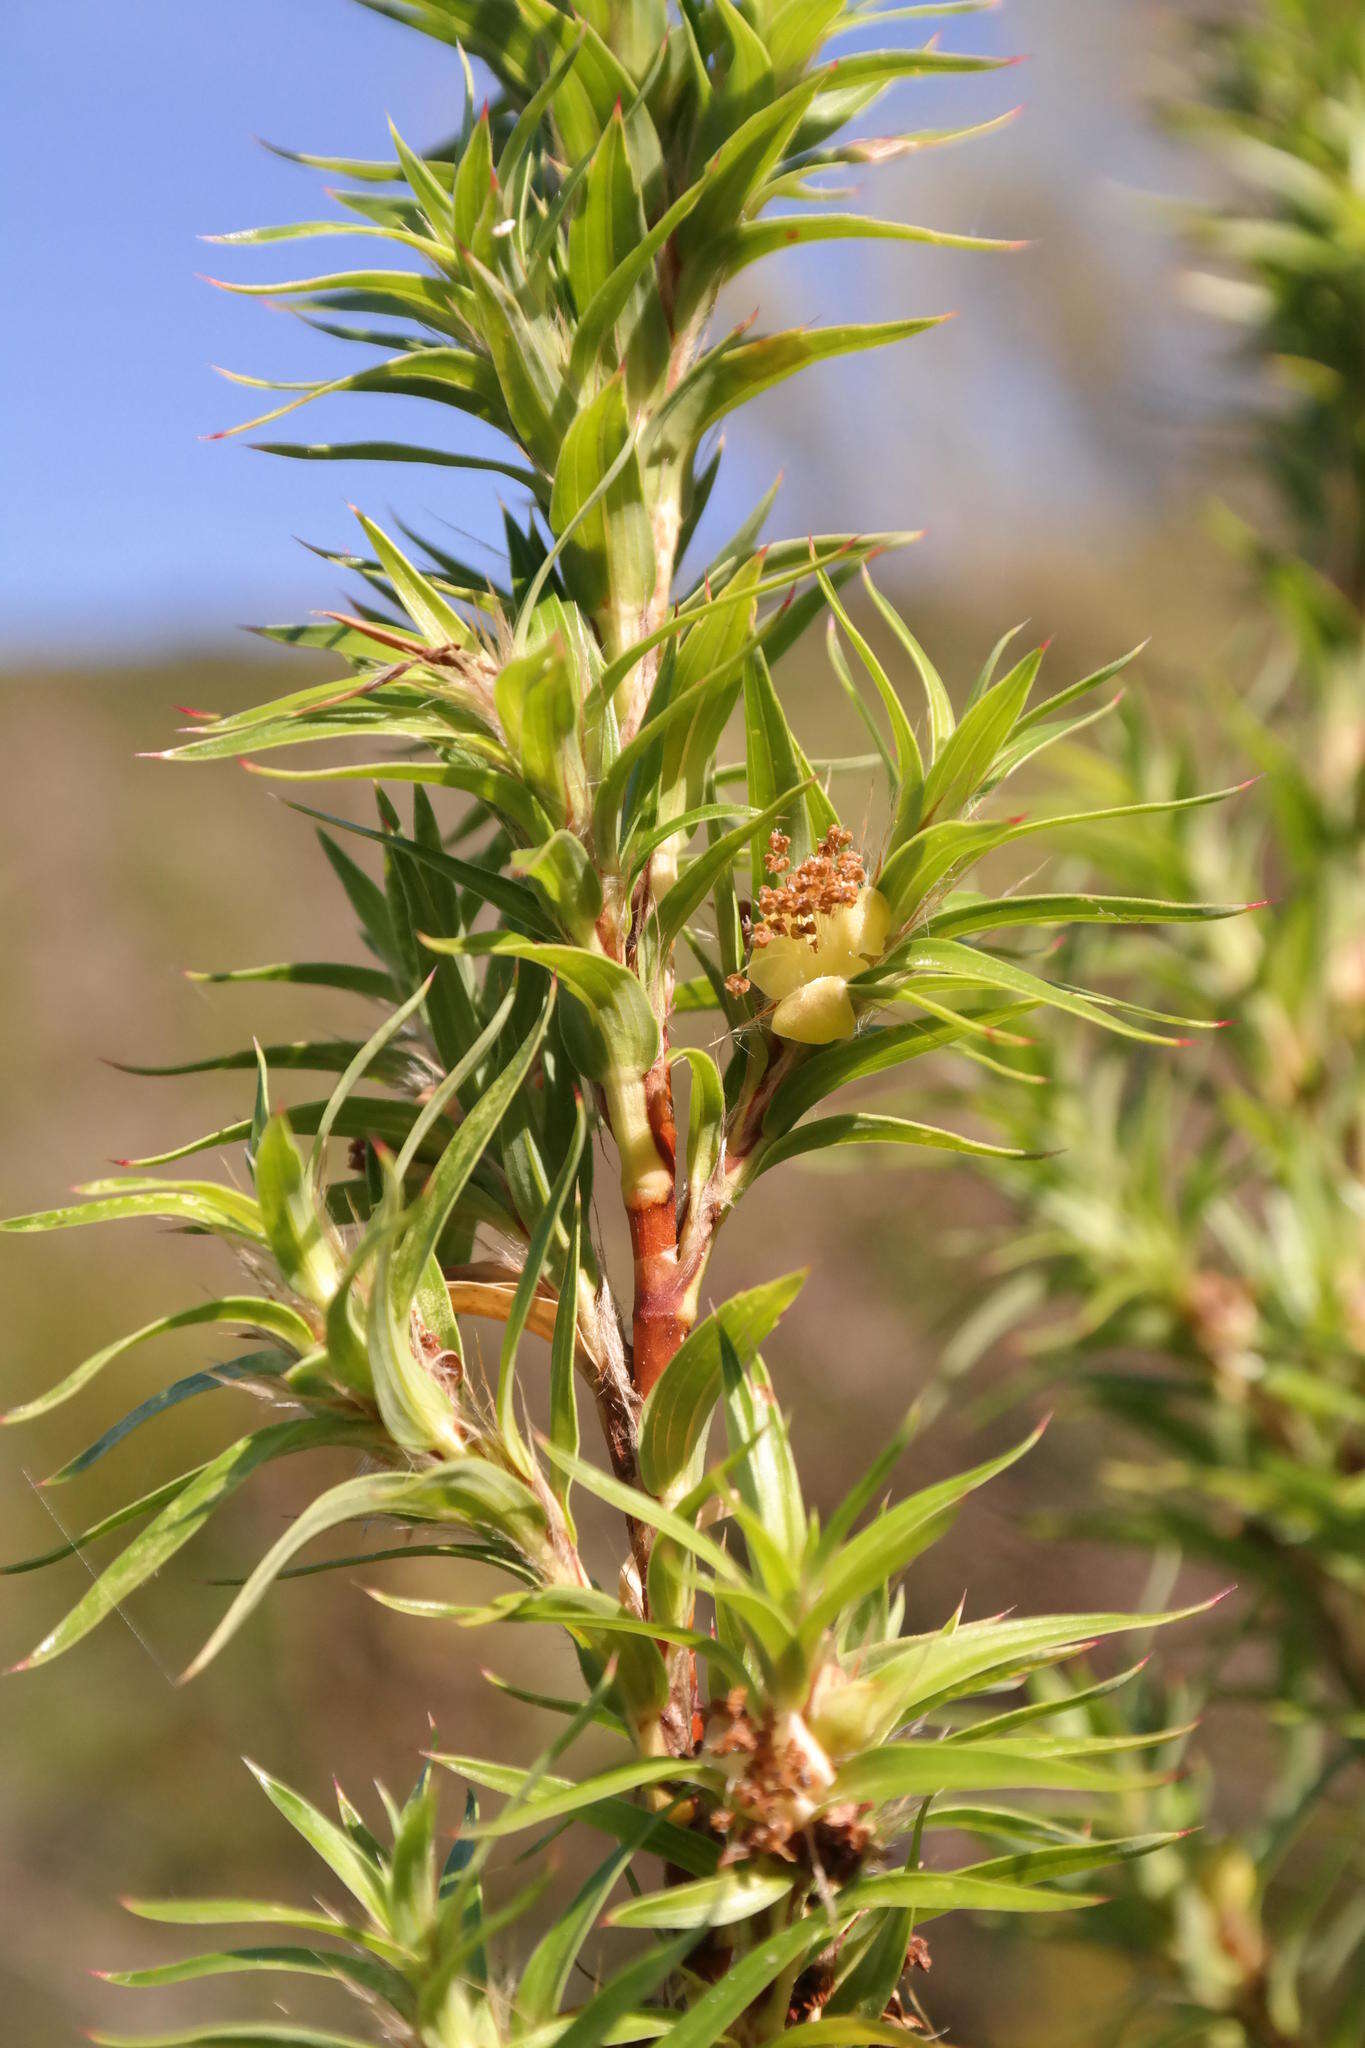
[[[1128,43],[1097,14],[1103,23],[1109,8],[1017,0],[1009,14],[950,25],[958,47],[1003,51],[1019,31],[1031,41],[1033,113],[980,158],[976,147],[935,158],[915,180],[896,172],[866,203],[890,213],[923,203],[937,223],[1017,231],[997,217],[1013,184],[1060,193],[1087,178],[1099,207],[1087,231],[1103,233],[1109,180],[1142,174],[1144,154]],[[1078,63],[1101,82],[1093,104],[1074,92]],[[241,254],[196,240],[325,211],[319,182],[252,137],[385,154],[391,113],[430,143],[458,121],[452,55],[346,0],[8,0],[6,70],[0,635],[10,651],[121,653],[329,604],[334,573],[291,537],[344,543],[352,496],[381,516],[399,502],[413,518],[487,530],[489,492],[448,473],[276,463],[201,438],[254,410],[213,362],[303,377],[336,360],[336,344],[196,276],[284,276],[319,248],[346,248]],[[905,125],[980,119],[1017,98],[1023,78],[915,86]],[[845,492],[855,524],[935,514],[950,537],[980,530],[982,494],[1046,510],[1099,459],[1093,422],[1074,418],[1044,338],[999,317],[1001,289],[1029,303],[1025,274],[1001,287],[976,258],[896,252],[890,262],[855,250],[769,264],[751,281],[751,299],[763,295],[780,319],[950,305],[968,315],[913,344],[913,360],[907,350],[894,365],[823,371],[804,385],[798,444],[782,451],[794,530],[837,524],[827,508],[839,512]],[[952,442],[948,393],[970,399],[956,408]],[[393,432],[395,403],[405,406],[370,401],[368,418],[356,399],[317,408],[301,438]],[[767,401],[731,436],[716,520],[769,481],[774,426],[786,418]],[[430,422],[422,434],[434,438]],[[941,481],[950,463],[956,498]]]

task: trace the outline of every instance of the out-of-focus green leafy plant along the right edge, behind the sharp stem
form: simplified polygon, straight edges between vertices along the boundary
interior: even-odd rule
[[[1230,184],[1183,225],[1199,299],[1263,371],[1244,440],[1273,504],[1259,528],[1218,516],[1246,616],[1185,715],[1128,713],[1064,786],[1169,799],[1244,766],[1232,821],[1171,813],[1146,852],[1093,834],[1081,872],[1267,901],[1162,948],[1164,997],[1226,1016],[1216,1051],[1058,1044],[1046,1098],[1001,1098],[1015,1143],[1060,1149],[1013,1176],[1001,1278],[948,1366],[1023,1327],[1029,1382],[1101,1423],[1085,1530],[1238,1583],[1203,1667],[1136,1704],[1136,1724],[1209,1722],[1173,1749],[1191,1776],[1142,1804],[1199,1833],[1089,1923],[1160,1976],[1113,2038],[1345,2048],[1365,2032],[1365,10],[1224,14],[1195,88],[1177,119]],[[1060,971],[1085,956],[1068,942]],[[1218,1786],[1230,1712],[1265,1741],[1240,1810]]]

